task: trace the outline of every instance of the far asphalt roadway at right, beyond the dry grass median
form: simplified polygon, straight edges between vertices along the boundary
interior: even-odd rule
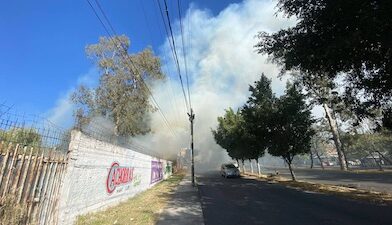
[[[291,179],[288,168],[262,169],[262,173],[264,174],[275,173],[276,171],[279,172],[279,175]],[[340,171],[338,168],[328,168],[325,170],[319,168],[295,168],[294,172],[298,180],[323,184],[346,185],[364,190],[392,193],[392,171],[385,171],[382,173],[355,173]]]

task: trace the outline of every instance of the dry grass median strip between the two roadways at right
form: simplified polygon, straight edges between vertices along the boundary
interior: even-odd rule
[[[268,181],[269,183],[279,183],[285,186],[294,187],[304,191],[312,191],[319,193],[326,193],[336,196],[344,196],[352,199],[372,202],[381,205],[392,205],[392,195],[388,193],[360,190],[352,187],[345,187],[330,184],[317,184],[306,181],[292,181],[290,179],[281,177],[279,175],[253,175],[247,174],[250,177],[256,177],[259,180]]]

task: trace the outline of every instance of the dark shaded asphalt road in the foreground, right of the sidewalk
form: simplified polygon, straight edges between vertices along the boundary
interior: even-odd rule
[[[206,225],[382,225],[392,221],[392,206],[253,179],[226,179],[218,171],[203,174],[198,184]]]

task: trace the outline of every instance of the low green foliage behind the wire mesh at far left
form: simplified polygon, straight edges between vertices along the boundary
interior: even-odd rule
[[[40,146],[42,144],[41,135],[32,128],[12,128],[7,131],[0,130],[0,140],[24,146]]]

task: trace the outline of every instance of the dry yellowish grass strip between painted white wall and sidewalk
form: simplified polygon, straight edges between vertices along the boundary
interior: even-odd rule
[[[80,216],[77,225],[155,224],[183,174],[174,174],[151,189],[105,211]]]

